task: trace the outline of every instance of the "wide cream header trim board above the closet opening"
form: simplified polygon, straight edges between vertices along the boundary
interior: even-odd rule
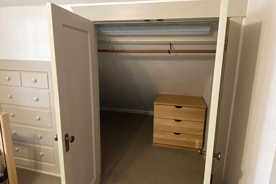
[[[91,21],[133,21],[215,18],[220,14],[219,0],[120,3],[71,6],[74,13]],[[125,11],[128,10],[128,11]],[[230,0],[228,17],[245,17],[247,0]],[[108,13],[106,13],[108,12]]]

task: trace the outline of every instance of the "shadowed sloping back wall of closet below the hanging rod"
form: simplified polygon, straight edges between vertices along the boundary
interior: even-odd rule
[[[159,93],[203,96],[214,63],[208,54],[99,53],[98,58],[100,106],[147,111],[153,111]]]

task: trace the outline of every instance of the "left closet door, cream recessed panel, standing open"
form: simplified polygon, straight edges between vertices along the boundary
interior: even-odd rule
[[[94,23],[55,4],[47,3],[46,7],[61,181],[63,184],[99,183],[98,62]]]

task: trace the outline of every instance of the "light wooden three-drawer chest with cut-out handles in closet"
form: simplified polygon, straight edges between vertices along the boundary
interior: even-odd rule
[[[201,97],[159,94],[154,102],[153,144],[202,148],[206,105]]]

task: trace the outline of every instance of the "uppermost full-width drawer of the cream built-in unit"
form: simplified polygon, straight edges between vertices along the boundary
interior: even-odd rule
[[[25,105],[31,107],[50,108],[48,92],[12,90],[10,88],[0,88],[1,103]]]

